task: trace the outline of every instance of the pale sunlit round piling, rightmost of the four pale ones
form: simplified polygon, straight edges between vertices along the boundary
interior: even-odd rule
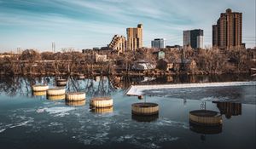
[[[95,97],[90,100],[90,106],[96,108],[113,106],[113,99],[110,97]]]

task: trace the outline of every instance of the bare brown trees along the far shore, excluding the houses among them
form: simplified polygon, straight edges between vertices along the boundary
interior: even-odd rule
[[[252,51],[247,49],[186,49],[182,54],[178,49],[162,49],[166,54],[166,60],[175,62],[182,57],[195,60],[197,71],[210,73],[248,72],[256,67],[252,60]],[[32,74],[36,72],[45,74],[115,74],[117,70],[131,72],[131,66],[137,60],[145,60],[156,65],[157,58],[153,54],[156,49],[138,49],[137,51],[125,51],[118,54],[114,51],[93,51],[85,53],[76,51],[67,52],[43,52],[38,53],[33,49],[26,49],[22,54],[13,54],[0,59],[0,72],[2,74]],[[108,62],[96,62],[95,54],[107,54]]]

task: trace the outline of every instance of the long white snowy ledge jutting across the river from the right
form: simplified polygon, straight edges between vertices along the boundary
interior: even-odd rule
[[[178,84],[157,84],[157,85],[131,85],[126,95],[143,95],[144,90],[150,89],[186,89],[186,88],[213,88],[229,86],[252,86],[252,82],[224,82],[224,83],[178,83]]]

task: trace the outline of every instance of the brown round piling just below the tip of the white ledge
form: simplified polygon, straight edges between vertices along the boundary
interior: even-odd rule
[[[131,112],[135,115],[150,116],[157,115],[159,112],[159,106],[156,103],[141,102],[131,105]]]

